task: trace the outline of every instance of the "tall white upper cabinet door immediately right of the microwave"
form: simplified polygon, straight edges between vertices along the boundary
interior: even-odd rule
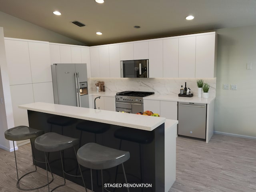
[[[163,77],[163,40],[149,42],[149,77]]]

